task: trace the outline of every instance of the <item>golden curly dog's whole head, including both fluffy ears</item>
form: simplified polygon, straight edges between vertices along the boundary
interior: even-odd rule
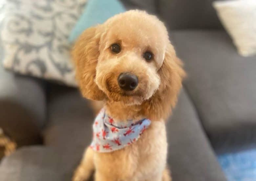
[[[85,30],[72,54],[81,92],[94,100],[134,105],[153,95],[174,98],[184,75],[164,24],[139,10]]]

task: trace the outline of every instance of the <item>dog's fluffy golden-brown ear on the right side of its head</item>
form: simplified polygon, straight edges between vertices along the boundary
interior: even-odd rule
[[[176,56],[171,44],[167,46],[165,58],[158,70],[160,76],[159,89],[151,99],[145,102],[145,115],[152,120],[166,119],[177,102],[177,97],[182,86],[182,78],[185,72],[182,62]]]

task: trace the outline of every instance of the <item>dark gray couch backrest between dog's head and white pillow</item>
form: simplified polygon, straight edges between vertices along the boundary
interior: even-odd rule
[[[156,0],[160,19],[169,29],[222,29],[214,0]]]

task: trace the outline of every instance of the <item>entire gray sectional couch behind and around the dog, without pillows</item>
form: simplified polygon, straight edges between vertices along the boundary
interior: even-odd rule
[[[167,125],[173,180],[226,180],[216,153],[256,146],[256,57],[238,55],[212,0],[122,2],[165,22],[188,73]],[[71,180],[93,119],[76,89],[0,67],[0,127],[20,146],[2,159],[0,180]]]

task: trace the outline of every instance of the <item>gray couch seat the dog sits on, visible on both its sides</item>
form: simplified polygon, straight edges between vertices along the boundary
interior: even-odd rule
[[[72,170],[91,142],[94,116],[88,102],[77,90],[55,86],[50,94],[49,123],[44,131],[45,144],[60,150],[61,154],[69,155],[65,160],[69,160],[69,168]],[[167,133],[168,163],[174,180],[225,180],[184,91],[181,92],[177,109],[168,122]]]

